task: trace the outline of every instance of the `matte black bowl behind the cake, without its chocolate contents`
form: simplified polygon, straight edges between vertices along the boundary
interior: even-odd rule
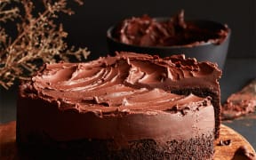
[[[168,18],[156,18],[156,20],[168,20]],[[187,22],[187,21],[186,21]],[[227,26],[219,22],[211,20],[189,20],[200,28],[205,29],[223,29],[227,30]],[[107,31],[107,42],[108,51],[110,55],[114,55],[115,52],[138,52],[157,54],[164,58],[173,54],[185,54],[186,57],[196,58],[198,61],[209,60],[218,64],[219,68],[223,69],[225,60],[228,54],[228,44],[231,34],[231,30],[228,28],[228,36],[219,44],[210,42],[199,43],[199,44],[185,44],[185,45],[173,45],[173,46],[139,46],[133,44],[124,44],[116,40],[113,37],[114,29],[116,25],[108,28]]]

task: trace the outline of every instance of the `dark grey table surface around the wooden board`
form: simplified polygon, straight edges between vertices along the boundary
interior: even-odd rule
[[[226,61],[220,79],[221,101],[241,90],[245,84],[256,78],[256,59],[229,59]],[[0,124],[16,120],[17,86],[10,90],[0,90]],[[248,140],[256,148],[256,114],[222,122]]]

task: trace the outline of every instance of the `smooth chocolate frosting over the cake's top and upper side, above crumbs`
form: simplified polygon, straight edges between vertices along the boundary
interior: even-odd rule
[[[87,63],[48,64],[20,86],[19,126],[38,125],[54,140],[190,139],[214,131],[212,97],[172,90],[218,90],[220,75],[215,64],[183,55],[117,52]],[[27,122],[29,112],[36,116]]]

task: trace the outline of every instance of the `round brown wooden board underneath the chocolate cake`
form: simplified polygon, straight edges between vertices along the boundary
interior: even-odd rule
[[[220,140],[231,140],[228,146],[218,146]],[[0,124],[0,159],[2,160],[13,160],[20,159],[18,149],[16,146],[16,122],[13,121],[8,124]],[[220,125],[220,138],[214,141],[215,152],[214,160],[229,160],[231,159],[236,149],[245,146],[252,153],[255,153],[250,143],[244,139],[236,131],[232,130],[228,126]]]

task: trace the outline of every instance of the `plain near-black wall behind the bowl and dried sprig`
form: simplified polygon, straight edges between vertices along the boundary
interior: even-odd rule
[[[92,52],[89,59],[108,53],[107,29],[132,16],[172,16],[185,10],[186,20],[215,20],[228,24],[232,30],[228,58],[256,57],[256,1],[231,0],[91,0],[83,6],[72,6],[76,14],[60,17],[68,32],[68,44],[86,46]]]

